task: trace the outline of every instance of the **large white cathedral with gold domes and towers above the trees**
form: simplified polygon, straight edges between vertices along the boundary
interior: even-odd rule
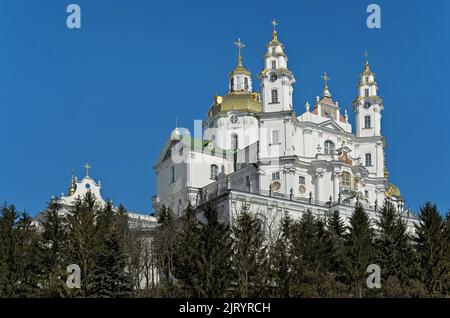
[[[413,231],[417,219],[389,183],[381,134],[384,103],[367,54],[352,102],[354,129],[347,110],[333,99],[326,73],[321,96],[298,115],[295,77],[272,23],[257,76],[260,91],[253,90],[239,39],[228,91],[214,96],[200,137],[181,127],[170,134],[155,165],[154,209],[164,205],[181,214],[188,202],[211,201],[228,219],[245,206],[263,219],[284,213],[298,218],[310,210],[317,216],[339,211],[347,221],[356,203],[376,219],[389,199]]]

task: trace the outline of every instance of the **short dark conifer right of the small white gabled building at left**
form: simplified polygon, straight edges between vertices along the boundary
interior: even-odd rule
[[[133,281],[126,270],[127,255],[120,234],[113,228],[107,234],[96,256],[93,274],[93,295],[96,297],[130,297]]]

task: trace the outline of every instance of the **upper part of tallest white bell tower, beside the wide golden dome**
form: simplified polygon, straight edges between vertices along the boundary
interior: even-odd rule
[[[278,41],[277,21],[272,21],[272,40],[267,44],[264,69],[259,74],[263,112],[292,110],[295,78],[287,67],[288,58],[283,43]]]

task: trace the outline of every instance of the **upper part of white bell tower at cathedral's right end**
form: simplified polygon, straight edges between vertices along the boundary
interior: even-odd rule
[[[353,101],[356,120],[356,137],[381,136],[381,111],[383,100],[378,97],[378,86],[375,74],[371,71],[369,61],[364,63],[364,71],[360,74],[358,96]]]

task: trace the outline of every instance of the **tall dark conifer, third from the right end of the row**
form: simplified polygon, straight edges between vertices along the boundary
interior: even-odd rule
[[[350,226],[345,235],[346,281],[353,296],[367,294],[366,270],[376,257],[374,233],[369,217],[361,204],[357,203],[349,220]]]

